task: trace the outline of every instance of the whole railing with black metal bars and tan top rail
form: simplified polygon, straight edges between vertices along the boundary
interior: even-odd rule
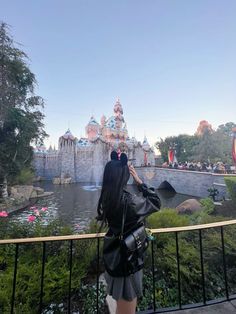
[[[225,257],[225,239],[224,239],[224,230],[230,225],[236,225],[236,220],[229,220],[223,222],[209,223],[203,225],[192,225],[185,227],[174,227],[174,228],[159,228],[152,229],[152,233],[156,236],[161,234],[170,234],[174,235],[175,241],[175,249],[176,249],[176,269],[177,269],[177,291],[178,291],[178,306],[173,308],[168,308],[168,311],[174,311],[183,308],[193,308],[207,305],[209,301],[207,301],[206,297],[206,285],[205,285],[205,269],[204,269],[204,252],[203,252],[203,244],[202,244],[202,233],[203,230],[206,229],[214,229],[218,230],[221,239],[221,251],[222,251],[222,267],[223,267],[223,277],[224,277],[224,287],[221,287],[224,291],[224,297],[221,299],[210,300],[210,303],[218,303],[226,300],[235,299],[235,294],[230,294],[228,287],[228,272],[227,272],[227,262]],[[191,304],[190,306],[183,304],[182,293],[181,293],[181,259],[180,259],[180,250],[179,250],[179,237],[183,232],[198,232],[198,241],[199,241],[199,257],[201,264],[201,291],[202,291],[202,301],[197,304]],[[73,263],[73,244],[76,241],[96,241],[96,312],[99,311],[99,269],[100,269],[100,260],[101,260],[101,240],[104,237],[104,233],[100,234],[80,234],[80,235],[67,235],[67,236],[52,236],[52,237],[38,237],[38,238],[22,238],[22,239],[6,239],[0,240],[0,245],[14,245],[15,253],[14,253],[14,271],[13,271],[13,280],[12,280],[12,294],[11,294],[11,308],[10,313],[15,313],[15,294],[17,289],[17,274],[19,267],[19,255],[20,255],[20,246],[26,243],[40,243],[42,245],[42,255],[39,256],[41,258],[41,278],[40,278],[40,297],[39,297],[39,305],[38,305],[38,313],[43,313],[44,310],[44,281],[45,281],[45,260],[46,260],[46,250],[48,243],[51,242],[60,242],[66,241],[69,244],[68,251],[68,260],[69,260],[69,277],[68,277],[68,295],[67,295],[67,311],[66,313],[71,313],[71,279],[72,279],[72,263]],[[236,240],[235,240],[236,241]],[[145,313],[164,313],[167,311],[166,309],[157,309],[157,296],[156,296],[156,282],[158,278],[156,278],[155,271],[155,241],[151,242],[151,272],[152,272],[152,309],[146,311]],[[86,252],[84,252],[86,254]],[[1,272],[0,272],[0,280],[1,280]]]

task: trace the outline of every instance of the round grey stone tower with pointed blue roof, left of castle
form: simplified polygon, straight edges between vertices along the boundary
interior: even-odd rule
[[[58,167],[61,178],[71,178],[75,182],[76,178],[76,143],[77,138],[73,136],[68,129],[64,135],[59,138],[58,143]]]

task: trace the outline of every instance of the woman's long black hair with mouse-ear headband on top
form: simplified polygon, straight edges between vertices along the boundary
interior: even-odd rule
[[[98,201],[98,220],[107,221],[110,214],[119,208],[123,189],[126,186],[130,173],[127,165],[127,155],[122,153],[120,159],[118,154],[111,153],[109,161],[104,169],[101,195]]]

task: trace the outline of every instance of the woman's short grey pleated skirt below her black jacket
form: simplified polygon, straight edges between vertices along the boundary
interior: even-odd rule
[[[107,294],[113,299],[132,301],[143,295],[143,270],[139,270],[127,277],[112,277],[105,272]]]

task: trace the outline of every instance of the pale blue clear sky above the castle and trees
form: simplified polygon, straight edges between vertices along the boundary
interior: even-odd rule
[[[235,0],[0,0],[45,100],[46,145],[113,115],[153,145],[236,122]]]

